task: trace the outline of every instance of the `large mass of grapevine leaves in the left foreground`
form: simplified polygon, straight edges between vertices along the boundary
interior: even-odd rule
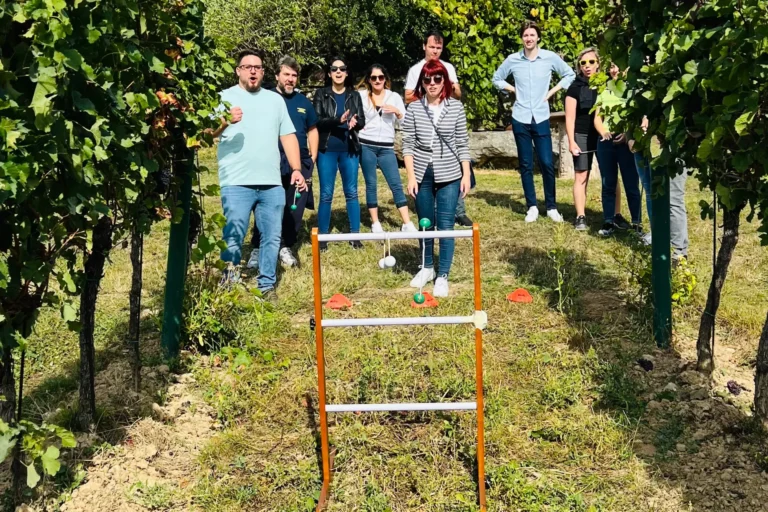
[[[31,333],[43,304],[77,329],[71,298],[88,231],[180,218],[180,146],[215,122],[232,72],[203,37],[202,0],[3,3],[0,9],[0,337]],[[186,142],[184,140],[186,139]],[[173,149],[175,148],[175,149]],[[51,279],[55,281],[51,283]],[[59,291],[54,294],[52,290]],[[63,301],[61,300],[63,298]]]

